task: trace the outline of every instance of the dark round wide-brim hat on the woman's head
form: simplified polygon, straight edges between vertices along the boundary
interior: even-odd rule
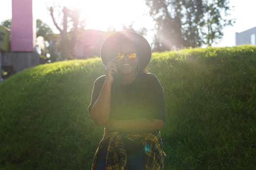
[[[100,57],[104,65],[113,59],[117,47],[122,42],[131,42],[137,47],[139,68],[147,67],[151,59],[151,48],[148,41],[140,34],[131,31],[118,31],[109,35],[103,42],[100,49]]]

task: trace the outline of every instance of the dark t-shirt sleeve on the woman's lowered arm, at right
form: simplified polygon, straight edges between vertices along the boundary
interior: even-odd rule
[[[149,118],[166,119],[165,96],[162,85],[156,75],[149,73],[148,75],[148,104]]]

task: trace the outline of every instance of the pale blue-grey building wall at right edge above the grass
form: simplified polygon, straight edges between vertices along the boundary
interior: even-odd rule
[[[236,45],[242,44],[256,45],[256,27],[236,33]]]

